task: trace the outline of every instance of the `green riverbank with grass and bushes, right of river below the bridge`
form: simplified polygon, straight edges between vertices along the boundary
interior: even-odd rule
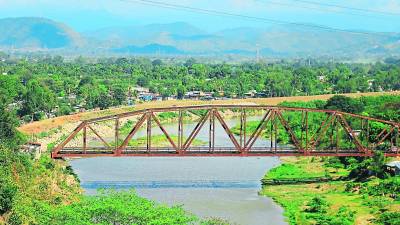
[[[281,160],[283,163],[270,170],[265,179],[338,178],[350,173],[349,169],[329,165],[326,158],[283,157]],[[260,194],[280,204],[290,224],[321,224],[322,221],[324,224],[396,224],[400,221],[400,200],[399,196],[392,195],[396,192],[389,185],[398,185],[400,179],[391,179],[265,185]],[[392,222],[387,220],[389,217]]]

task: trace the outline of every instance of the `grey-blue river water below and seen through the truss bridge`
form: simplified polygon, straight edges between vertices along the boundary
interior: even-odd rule
[[[250,120],[259,119],[252,117]],[[229,127],[239,121],[226,121]],[[188,135],[195,122],[185,123]],[[164,126],[177,134],[177,125]],[[207,141],[204,127],[197,139]],[[222,126],[216,126],[215,146],[233,146]],[[161,131],[154,130],[153,134]],[[145,135],[139,132],[135,137]],[[269,145],[260,140],[255,146]],[[287,224],[283,209],[259,196],[260,179],[277,166],[276,157],[99,157],[71,161],[86,193],[98,188],[135,188],[139,195],[168,205],[182,205],[202,218],[219,217],[237,224]]]

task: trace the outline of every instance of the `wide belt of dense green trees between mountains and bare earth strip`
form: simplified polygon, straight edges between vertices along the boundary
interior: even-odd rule
[[[385,63],[296,62],[203,64],[164,63],[146,58],[79,57],[0,60],[0,102],[25,121],[70,114],[77,108],[126,104],[147,87],[163,97],[182,98],[187,91],[237,97],[255,90],[265,97],[400,90],[400,65]],[[129,91],[130,90],[130,91]]]

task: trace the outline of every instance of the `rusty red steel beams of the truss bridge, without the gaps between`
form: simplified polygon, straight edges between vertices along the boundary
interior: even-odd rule
[[[221,114],[218,112],[218,110],[222,109],[231,109],[231,110],[240,110],[240,134],[239,134],[239,142],[236,140],[236,137],[233,135],[233,133],[230,131],[230,128],[227,126],[225,123],[223,117]],[[200,121],[197,123],[196,127],[191,131],[188,139],[184,142],[183,141],[183,111],[184,110],[207,110],[207,113],[203,116],[201,116]],[[261,119],[259,125],[257,126],[256,130],[251,134],[249,139],[247,139],[246,135],[246,110],[266,110],[267,113],[263,116]],[[179,121],[178,121],[178,145],[175,144],[175,142],[172,140],[171,136],[169,136],[168,132],[164,129],[162,124],[160,123],[159,119],[155,115],[155,113],[158,112],[166,112],[166,111],[172,111],[172,112],[179,112]],[[290,127],[289,120],[286,120],[285,117],[283,116],[282,112],[301,112],[302,113],[302,130],[301,130],[301,140],[299,141],[298,138],[295,136],[294,131],[292,127]],[[310,112],[315,112],[315,113],[325,113],[329,114],[324,121],[321,121],[320,127],[316,130],[315,133],[311,136],[311,139],[308,137],[310,128],[309,128],[309,121],[308,121],[308,113]],[[140,119],[136,122],[135,126],[132,128],[128,136],[124,139],[124,141],[120,144],[119,142],[119,119],[124,118],[127,116],[141,116]],[[354,130],[349,126],[348,122],[346,121],[346,117],[352,117],[353,119],[361,119],[362,120],[362,130],[361,130],[361,136],[357,137],[355,135]],[[280,123],[283,125],[285,128],[285,131],[291,136],[292,142],[297,149],[296,152],[290,153],[290,154],[303,154],[303,155],[310,155],[310,154],[344,154],[343,149],[340,147],[340,131],[342,129],[339,129],[339,126],[343,127],[343,130],[347,133],[347,135],[350,138],[350,141],[356,146],[356,153],[358,155],[369,155],[371,154],[371,151],[369,150],[369,145],[371,144],[372,146],[377,146],[381,144],[383,141],[387,140],[390,138],[391,142],[391,147],[390,150],[385,150],[385,154],[388,155],[399,155],[399,147],[398,147],[398,127],[400,126],[400,123],[396,123],[393,121],[384,121],[380,119],[375,119],[375,118],[370,118],[370,117],[365,117],[365,116],[360,116],[360,115],[355,115],[355,114],[350,114],[350,113],[342,113],[342,112],[337,112],[335,110],[319,110],[319,109],[307,109],[307,108],[290,108],[290,107],[279,107],[279,106],[263,106],[263,105],[201,105],[201,106],[184,106],[184,107],[170,107],[170,108],[154,108],[154,109],[148,109],[148,110],[139,110],[139,111],[134,111],[134,112],[129,112],[129,113],[123,113],[123,114],[118,114],[118,115],[113,115],[113,116],[107,116],[107,117],[101,117],[101,118],[96,118],[92,120],[87,120],[79,124],[78,127],[75,128],[73,132],[69,134],[69,136],[52,152],[52,157],[63,157],[70,155],[72,153],[66,152],[68,149],[71,149],[71,147],[65,147],[73,138],[75,138],[80,131],[83,130],[83,141],[82,141],[82,147],[80,151],[81,155],[84,156],[89,156],[93,154],[114,154],[116,156],[125,156],[126,153],[129,153],[132,151],[132,147],[128,147],[128,143],[131,140],[131,138],[135,135],[135,133],[141,128],[143,125],[144,121],[147,121],[147,146],[145,147],[145,152],[142,153],[140,152],[141,147],[136,147],[138,149],[137,154],[153,154],[153,152],[157,152],[160,147],[157,146],[152,146],[151,145],[151,122],[154,119],[154,121],[157,123],[157,125],[160,127],[160,129],[163,131],[164,135],[166,135],[168,141],[171,143],[174,151],[170,152],[169,154],[174,154],[177,155],[176,153],[179,153],[178,155],[186,155],[186,154],[197,154],[195,151],[196,149],[201,149],[197,147],[190,147],[191,143],[194,141],[200,130],[202,129],[203,125],[205,122],[210,119],[210,130],[209,130],[209,146],[207,148],[207,152],[210,155],[214,154],[220,154],[219,151],[221,151],[221,147],[215,147],[215,118],[221,123],[222,127],[224,128],[225,132],[228,134],[230,140],[232,141],[234,145],[234,149],[231,149],[229,151],[234,151],[235,154],[252,154],[254,151],[258,151],[258,147],[253,148],[253,144],[256,142],[257,138],[260,136],[262,130],[264,130],[265,126],[267,126],[268,122],[271,120],[271,147],[266,148],[269,149],[268,151],[271,151],[273,154],[281,154],[284,153],[285,147],[280,147],[279,151],[277,151],[277,139],[278,139],[278,123],[277,121],[280,121]],[[99,135],[99,133],[93,129],[93,126],[90,126],[91,123],[96,123],[99,121],[106,121],[106,120],[115,120],[115,149],[113,151],[110,150],[110,145]],[[365,121],[364,121],[365,120]],[[370,139],[370,131],[369,131],[369,122],[370,121],[376,121],[376,122],[381,122],[383,124],[391,126],[390,128],[385,128],[384,130],[381,131],[381,133],[377,136],[377,140],[371,141]],[[364,123],[365,122],[365,123]],[[331,143],[331,149],[332,152],[326,152],[326,150],[321,150],[320,151],[314,151],[316,149],[316,146],[318,143],[322,140],[323,135],[327,133],[327,130],[329,127],[332,128],[330,135],[330,143]],[[336,150],[333,150],[333,142],[334,142],[334,128],[336,127]],[[96,152],[95,147],[89,147],[87,146],[87,128],[91,129],[94,134],[100,138],[100,140],[104,143],[105,148],[104,149],[98,149],[100,152]],[[397,133],[393,134],[395,130],[397,129]],[[275,135],[274,135],[275,132]],[[305,139],[304,136],[305,135]],[[360,140],[364,141],[364,138],[366,138],[367,143],[366,146],[363,146],[363,144],[360,142]],[[305,141],[305,143],[303,143]],[[370,143],[371,142],[371,143]],[[374,143],[375,142],[375,143]],[[275,143],[275,146],[273,145]],[[186,151],[190,147],[191,151]],[[223,148],[223,147],[222,147]],[[79,149],[77,147],[76,149]],[[162,149],[162,148],[161,148]],[[251,149],[251,151],[249,151]],[[93,152],[95,150],[95,152]],[[203,150],[201,150],[203,151]],[[351,150],[353,151],[353,150]],[[79,152],[79,151],[78,151]],[[75,154],[75,153],[73,153]],[[200,154],[200,153],[199,153]],[[201,153],[203,154],[203,153]],[[232,154],[232,155],[235,155]],[[263,153],[263,154],[270,154],[270,153]],[[289,154],[289,153],[284,153],[284,154]],[[326,155],[325,154],[325,155]],[[347,154],[347,153],[346,153]],[[349,153],[350,154],[350,153]],[[354,155],[354,153],[351,153]],[[135,153],[136,155],[136,153]]]

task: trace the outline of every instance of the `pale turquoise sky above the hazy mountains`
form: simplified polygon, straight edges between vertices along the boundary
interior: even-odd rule
[[[154,1],[267,20],[317,24],[336,29],[400,32],[400,0]],[[145,2],[140,0],[0,0],[0,18],[44,17],[65,23],[80,32],[109,26],[173,22],[187,22],[209,32],[235,27],[268,27],[275,24],[266,20],[210,15],[209,13],[199,14]],[[319,4],[312,4],[318,2]]]

